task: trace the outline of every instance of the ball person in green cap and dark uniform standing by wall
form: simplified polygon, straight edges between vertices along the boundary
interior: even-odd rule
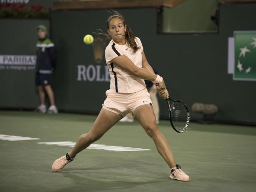
[[[47,37],[47,28],[44,25],[39,25],[37,27],[37,34],[35,84],[38,89],[41,103],[37,107],[37,111],[40,113],[46,113],[46,111],[48,113],[58,113],[54,101],[54,92],[51,87],[51,74],[55,68],[54,44]],[[50,101],[48,110],[45,106],[45,92]]]

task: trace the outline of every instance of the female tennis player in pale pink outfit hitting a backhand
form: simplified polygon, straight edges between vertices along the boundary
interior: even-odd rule
[[[75,156],[101,138],[127,113],[132,113],[156,145],[158,153],[171,168],[171,179],[189,181],[189,177],[174,161],[171,148],[160,132],[153,112],[152,101],[146,89],[144,79],[158,83],[158,92],[162,98],[169,94],[161,76],[154,74],[143,52],[143,45],[126,24],[123,15],[114,12],[107,20],[107,31],[111,41],[106,51],[111,81],[106,91],[106,100],[89,133],[81,135],[74,148],[54,161],[53,171],[61,170]]]

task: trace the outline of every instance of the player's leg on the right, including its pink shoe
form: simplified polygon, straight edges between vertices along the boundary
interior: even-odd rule
[[[134,116],[138,119],[146,133],[153,139],[158,153],[160,153],[171,168],[170,178],[179,181],[189,181],[187,174],[174,161],[170,145],[157,126],[152,106],[148,104],[139,106],[134,110]]]

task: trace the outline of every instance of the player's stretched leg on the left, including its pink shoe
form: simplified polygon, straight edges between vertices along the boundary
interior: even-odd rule
[[[85,148],[88,148],[91,143],[94,143],[101,138],[122,117],[123,116],[120,114],[113,113],[105,108],[102,108],[90,131],[79,137],[74,148],[67,153],[66,156],[62,156],[54,161],[52,170],[61,170],[66,164],[71,162],[79,152]]]

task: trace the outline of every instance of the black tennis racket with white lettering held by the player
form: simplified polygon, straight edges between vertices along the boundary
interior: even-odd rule
[[[168,104],[169,118],[172,128],[178,133],[183,133],[186,131],[190,120],[186,104],[181,101],[175,101],[171,98],[167,98],[166,101]],[[172,101],[172,104],[170,101]]]

